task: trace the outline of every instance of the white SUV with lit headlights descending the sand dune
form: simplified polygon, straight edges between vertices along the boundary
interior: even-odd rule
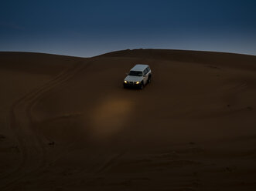
[[[144,85],[151,82],[151,69],[148,65],[135,65],[124,80],[124,88],[138,87],[143,89]]]

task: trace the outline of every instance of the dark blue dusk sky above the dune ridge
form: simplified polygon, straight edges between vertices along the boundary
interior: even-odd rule
[[[256,55],[256,1],[0,2],[0,51],[88,57],[139,48]]]

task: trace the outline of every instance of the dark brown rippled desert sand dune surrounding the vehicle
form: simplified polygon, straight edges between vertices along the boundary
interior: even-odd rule
[[[256,190],[256,56],[0,52],[0,90],[1,191]]]

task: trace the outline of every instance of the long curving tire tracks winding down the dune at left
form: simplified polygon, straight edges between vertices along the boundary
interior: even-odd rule
[[[86,64],[82,61],[77,62],[72,67],[64,69],[54,79],[23,95],[12,104],[9,126],[18,142],[19,151],[21,152],[21,163],[12,173],[1,178],[1,190],[12,189],[19,180],[46,165],[44,157],[45,146],[38,133],[32,127],[32,106],[35,106],[36,102],[47,92],[50,92],[56,86],[67,83],[73,75],[88,65],[90,65],[90,62],[86,62]]]

